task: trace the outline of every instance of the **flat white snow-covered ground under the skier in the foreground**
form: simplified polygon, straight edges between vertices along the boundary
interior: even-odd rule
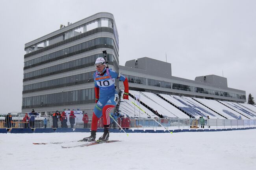
[[[254,170],[256,129],[224,132],[111,133],[118,143],[82,148],[89,133],[0,133],[2,170]],[[100,137],[102,133],[97,133]],[[73,144],[73,143],[72,143]],[[64,145],[64,144],[63,144]],[[67,144],[65,144],[67,145]]]

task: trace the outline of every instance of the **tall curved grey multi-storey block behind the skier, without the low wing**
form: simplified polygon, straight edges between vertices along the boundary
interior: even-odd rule
[[[95,106],[93,73],[108,52],[118,70],[119,40],[114,16],[96,13],[25,44],[22,112],[55,112]]]

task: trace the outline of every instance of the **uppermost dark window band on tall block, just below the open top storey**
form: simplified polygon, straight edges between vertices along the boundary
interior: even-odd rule
[[[40,62],[44,62],[44,61],[50,60],[52,58],[57,58],[62,55],[67,55],[69,53],[72,53],[74,51],[79,51],[81,49],[86,49],[86,48],[89,48],[89,47],[92,47],[95,45],[99,45],[99,44],[108,44],[108,45],[114,46],[114,40],[112,38],[108,38],[108,37],[95,38],[93,40],[89,40],[89,41],[83,42],[81,44],[77,44],[75,46],[61,49],[54,53],[46,54],[41,57],[26,61],[26,62],[24,62],[24,67],[31,66],[33,64],[38,64]]]

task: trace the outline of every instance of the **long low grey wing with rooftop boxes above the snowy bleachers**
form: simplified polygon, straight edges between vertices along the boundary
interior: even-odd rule
[[[128,78],[131,90],[246,102],[245,91],[228,88],[225,77],[206,75],[196,77],[195,80],[174,77],[171,75],[170,63],[148,57],[127,61],[125,66],[119,66],[119,72]],[[122,84],[120,86],[123,88]]]

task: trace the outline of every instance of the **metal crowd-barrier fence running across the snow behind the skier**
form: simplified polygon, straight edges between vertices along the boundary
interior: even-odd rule
[[[74,120],[74,121],[73,121]],[[69,116],[51,116],[51,115],[24,115],[24,114],[7,114],[0,115],[0,128],[91,128],[92,117],[76,115],[74,119]],[[129,118],[115,117],[115,121],[110,119],[110,128],[119,128],[115,121],[122,128],[157,128],[161,125],[166,128],[200,128],[198,119],[160,119],[154,120],[149,118]],[[237,119],[206,119],[205,126],[208,128],[221,127],[256,127],[256,119],[237,120]],[[193,126],[192,126],[193,125]],[[103,117],[98,122],[98,128],[104,128]]]

